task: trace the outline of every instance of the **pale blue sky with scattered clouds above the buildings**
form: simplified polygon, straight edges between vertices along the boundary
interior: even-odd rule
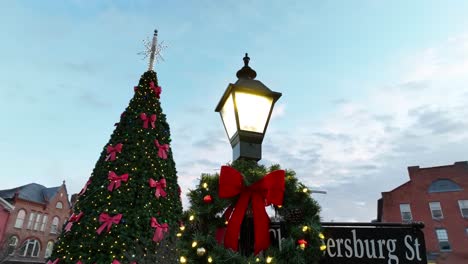
[[[262,163],[327,191],[314,195],[325,221],[370,221],[408,166],[468,160],[466,10],[429,0],[1,1],[0,189],[82,188],[157,28],[185,191],[231,160],[214,108],[248,52],[257,79],[283,93]]]

